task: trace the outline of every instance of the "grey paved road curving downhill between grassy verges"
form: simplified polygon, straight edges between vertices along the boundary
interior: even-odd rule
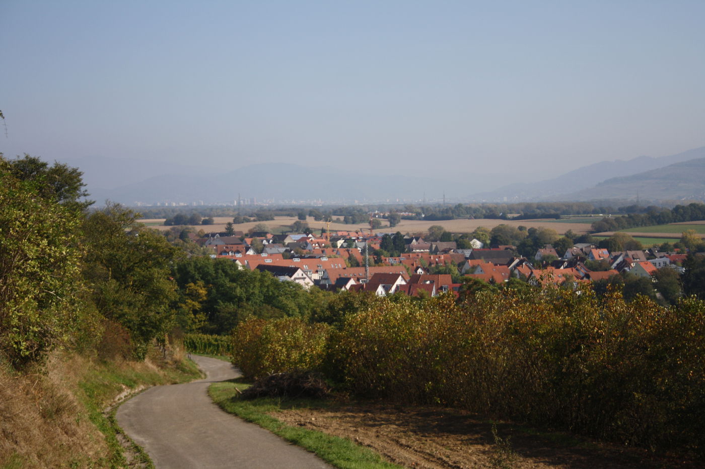
[[[207,389],[240,373],[230,363],[193,356],[204,380],[157,386],[118,408],[118,424],[157,469],[331,468],[314,454],[221,411]]]

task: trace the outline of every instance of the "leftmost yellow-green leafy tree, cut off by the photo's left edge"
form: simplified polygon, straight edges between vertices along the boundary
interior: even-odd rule
[[[0,356],[23,368],[71,343],[86,316],[77,206],[15,169],[0,156]]]

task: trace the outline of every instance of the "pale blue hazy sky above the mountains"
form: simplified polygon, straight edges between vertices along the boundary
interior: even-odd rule
[[[0,151],[467,175],[675,154],[705,145],[704,25],[703,0],[2,0]]]

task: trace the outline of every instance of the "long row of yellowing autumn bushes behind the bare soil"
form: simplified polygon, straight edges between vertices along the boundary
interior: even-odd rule
[[[233,361],[249,377],[316,370],[360,396],[705,454],[704,301],[580,287],[359,306],[329,326],[245,320]]]

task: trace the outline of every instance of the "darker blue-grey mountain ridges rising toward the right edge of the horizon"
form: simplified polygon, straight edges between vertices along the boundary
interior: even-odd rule
[[[636,199],[638,196],[644,199],[687,199],[694,194],[700,194],[699,199],[703,198],[705,187],[705,174],[699,173],[697,164],[689,170],[694,170],[693,175],[700,175],[701,186],[696,182],[687,187],[673,186],[668,189],[662,187],[663,184],[673,185],[680,171],[684,172],[682,177],[691,179],[691,175],[687,175],[688,169],[685,167],[676,167],[668,174],[670,182],[661,181],[661,185],[656,184],[656,180],[648,183],[646,178],[651,175],[642,175],[649,173],[652,170],[666,168],[673,163],[681,163],[694,160],[697,158],[705,158],[705,146],[701,148],[684,151],[679,154],[661,157],[639,156],[628,161],[601,161],[591,165],[583,166],[577,170],[572,170],[568,173],[553,177],[552,179],[542,180],[539,182],[525,182],[513,185],[506,185],[499,189],[494,189],[490,192],[480,192],[468,196],[471,201],[556,201],[556,200],[574,200],[587,201],[597,199]],[[632,183],[620,185],[620,182],[613,180],[620,177],[633,177]],[[682,179],[682,178],[681,178]],[[610,182],[609,184],[608,181]],[[642,184],[639,184],[642,181]]]

